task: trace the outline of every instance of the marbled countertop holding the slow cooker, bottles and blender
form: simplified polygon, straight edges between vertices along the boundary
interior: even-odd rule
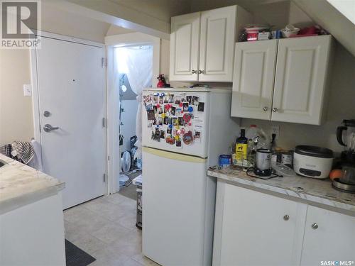
[[[332,187],[330,179],[315,179],[301,176],[294,177],[274,177],[271,179],[260,179],[249,177],[246,172],[237,168],[207,171],[211,177],[228,180],[236,185],[251,187],[284,194],[306,201],[307,203],[321,204],[347,211],[355,215],[355,194],[340,192]]]

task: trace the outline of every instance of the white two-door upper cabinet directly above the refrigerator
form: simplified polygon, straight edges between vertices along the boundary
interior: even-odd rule
[[[239,6],[171,18],[170,80],[232,82],[234,43],[250,22]]]

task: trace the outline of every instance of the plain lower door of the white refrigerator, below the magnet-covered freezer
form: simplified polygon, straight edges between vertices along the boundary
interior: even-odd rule
[[[143,148],[143,254],[160,265],[210,265],[206,161]]]

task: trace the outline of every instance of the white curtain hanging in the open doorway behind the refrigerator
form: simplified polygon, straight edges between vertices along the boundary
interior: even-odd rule
[[[138,148],[135,158],[142,157],[142,90],[152,87],[153,79],[153,47],[151,45],[131,46],[115,49],[116,79],[125,73],[129,79],[132,91],[137,94],[138,110],[136,115],[136,135]],[[117,83],[116,83],[117,84]]]

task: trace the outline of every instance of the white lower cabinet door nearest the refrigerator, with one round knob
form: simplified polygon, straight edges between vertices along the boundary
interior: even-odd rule
[[[306,206],[222,184],[222,237],[217,239],[217,215],[221,213],[217,201],[214,248],[220,245],[220,254],[214,250],[214,265],[298,265]],[[220,186],[218,182],[217,200]]]

